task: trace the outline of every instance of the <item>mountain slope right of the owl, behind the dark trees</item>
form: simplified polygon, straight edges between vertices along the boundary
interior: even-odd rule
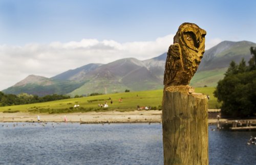
[[[223,41],[205,51],[197,73],[190,81],[191,86],[217,86],[217,82],[224,77],[224,73],[233,60],[239,63],[242,58],[249,61],[252,57],[250,47],[256,43],[249,41]]]

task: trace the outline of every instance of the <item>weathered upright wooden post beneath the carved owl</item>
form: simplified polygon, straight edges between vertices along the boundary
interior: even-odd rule
[[[208,164],[208,99],[201,93],[163,93],[164,164]]]

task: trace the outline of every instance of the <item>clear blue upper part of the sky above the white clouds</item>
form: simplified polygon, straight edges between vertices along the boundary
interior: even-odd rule
[[[255,1],[0,1],[0,44],[155,40],[183,22],[207,31],[208,40],[256,42]]]

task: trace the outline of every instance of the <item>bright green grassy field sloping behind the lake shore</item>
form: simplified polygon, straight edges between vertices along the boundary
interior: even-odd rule
[[[210,96],[209,108],[218,108],[220,104],[214,98],[214,87],[196,88],[196,92]],[[137,106],[150,106],[152,109],[161,109],[163,90],[134,91],[124,93],[112,93],[83,98],[66,99],[46,103],[15,105],[0,107],[0,112],[31,112],[31,113],[72,113],[88,111],[136,110]],[[111,104],[111,100],[113,104]],[[119,102],[122,99],[122,102]],[[98,104],[108,103],[108,108],[101,108]],[[79,104],[79,108],[74,105]]]

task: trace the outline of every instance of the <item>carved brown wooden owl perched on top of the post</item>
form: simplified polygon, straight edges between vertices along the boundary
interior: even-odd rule
[[[194,23],[182,23],[169,46],[164,86],[188,85],[204,54],[206,31]]]

